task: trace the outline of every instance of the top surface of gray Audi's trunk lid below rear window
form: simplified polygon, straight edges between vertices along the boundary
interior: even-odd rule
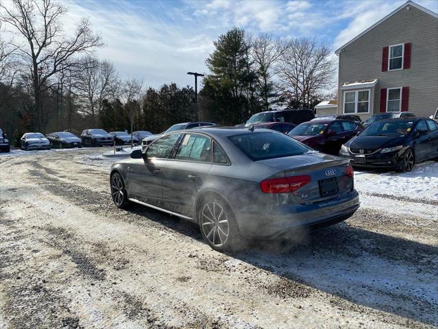
[[[330,156],[329,154],[323,154],[317,151],[309,151],[299,156],[285,156],[284,158],[259,160],[257,162],[276,169],[287,170],[307,166],[324,168],[327,164],[332,165],[334,161],[339,161],[339,163],[348,162],[338,156]]]

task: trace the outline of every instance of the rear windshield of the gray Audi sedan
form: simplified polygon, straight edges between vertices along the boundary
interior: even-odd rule
[[[293,138],[276,132],[253,132],[228,138],[253,161],[297,156],[311,150]]]

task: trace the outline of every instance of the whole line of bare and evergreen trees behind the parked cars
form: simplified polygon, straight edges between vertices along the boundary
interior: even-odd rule
[[[190,86],[121,78],[96,57],[104,42],[87,19],[64,32],[65,13],[52,0],[0,2],[0,127],[14,140],[90,127],[162,132],[198,119],[235,125],[261,110],[313,108],[333,86],[329,45],[233,27],[205,60],[196,106]]]

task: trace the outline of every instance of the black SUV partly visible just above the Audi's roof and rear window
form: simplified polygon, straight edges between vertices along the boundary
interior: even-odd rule
[[[245,123],[245,127],[265,122],[289,122],[299,125],[315,117],[312,110],[276,110],[254,114]]]

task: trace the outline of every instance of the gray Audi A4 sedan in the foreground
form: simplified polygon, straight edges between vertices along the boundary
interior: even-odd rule
[[[170,132],[112,165],[112,199],[198,223],[220,252],[343,221],[359,208],[348,160],[272,130]]]

